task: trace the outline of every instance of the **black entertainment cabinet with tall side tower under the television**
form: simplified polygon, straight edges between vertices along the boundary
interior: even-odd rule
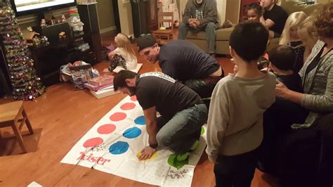
[[[84,22],[83,32],[73,32],[67,34],[65,39],[58,39],[59,28],[53,25],[47,30],[41,30],[41,33],[54,32],[52,38],[49,38],[52,41],[50,45],[30,47],[37,75],[45,86],[59,82],[61,65],[74,63],[76,60],[84,60],[86,63],[95,65],[103,60],[96,4],[78,4],[77,10],[81,22]],[[67,29],[63,27],[60,30]],[[79,49],[78,46],[82,44],[89,44],[89,49]]]

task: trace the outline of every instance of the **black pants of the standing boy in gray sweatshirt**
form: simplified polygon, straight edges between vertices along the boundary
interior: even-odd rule
[[[241,155],[219,155],[214,166],[216,186],[249,187],[258,161],[258,148]]]

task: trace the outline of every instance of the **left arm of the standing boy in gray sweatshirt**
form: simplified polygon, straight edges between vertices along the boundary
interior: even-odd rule
[[[216,163],[219,150],[221,149],[223,136],[229,123],[229,101],[226,87],[216,85],[209,107],[207,122],[207,149],[206,153],[211,162]]]

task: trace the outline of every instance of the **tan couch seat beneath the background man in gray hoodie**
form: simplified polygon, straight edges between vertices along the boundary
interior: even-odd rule
[[[216,41],[229,40],[230,34],[232,31],[233,31],[233,27],[216,30]],[[195,32],[195,31],[189,30],[188,34],[186,34],[186,39],[206,40],[206,32]]]

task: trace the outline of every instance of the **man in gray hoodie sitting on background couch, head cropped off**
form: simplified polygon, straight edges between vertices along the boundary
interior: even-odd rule
[[[207,35],[207,52],[214,56],[217,23],[216,0],[188,0],[183,13],[183,22],[178,27],[178,39],[185,39],[189,29],[204,31]]]

